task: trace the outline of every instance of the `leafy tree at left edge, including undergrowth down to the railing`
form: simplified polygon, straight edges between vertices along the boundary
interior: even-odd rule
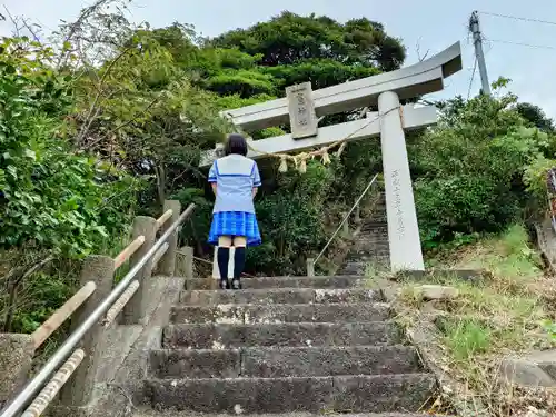
[[[26,38],[0,44],[0,268],[4,331],[29,331],[71,288],[40,279],[52,262],[106,247],[129,222],[137,181],[63,140],[73,78],[52,68],[51,49]],[[39,274],[39,276],[37,276]],[[59,284],[54,297],[46,282]],[[22,285],[32,318],[18,315]],[[34,290],[40,292],[33,292]],[[54,291],[56,292],[56,291]],[[49,301],[42,299],[48,296]],[[19,300],[22,301],[22,300]],[[42,306],[39,314],[33,307]]]

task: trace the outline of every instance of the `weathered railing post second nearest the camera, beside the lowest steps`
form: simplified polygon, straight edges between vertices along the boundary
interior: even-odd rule
[[[81,285],[93,281],[97,285],[95,292],[85,301],[71,317],[72,332],[99,304],[110,294],[113,284],[115,262],[108,256],[89,256],[81,270]],[[71,377],[71,384],[63,386],[60,399],[66,406],[86,406],[90,403],[95,389],[95,379],[99,361],[102,357],[105,329],[97,322],[83,337],[81,348],[85,358]]]

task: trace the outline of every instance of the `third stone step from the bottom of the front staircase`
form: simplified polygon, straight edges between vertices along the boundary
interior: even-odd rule
[[[256,325],[169,325],[165,348],[230,349],[255,346],[356,346],[396,344],[400,329],[391,321],[282,322]]]

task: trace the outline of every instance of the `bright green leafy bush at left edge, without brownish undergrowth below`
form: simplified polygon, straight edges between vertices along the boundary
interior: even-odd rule
[[[71,78],[57,77],[40,58],[31,59],[31,53],[44,56],[48,49],[37,47],[21,57],[12,42],[6,40],[0,54],[0,245],[32,245],[80,257],[90,252],[98,236],[121,230],[129,200],[111,197],[129,183],[122,172],[71,152],[57,137],[57,116],[69,105]],[[56,112],[44,107],[52,96],[58,98]],[[111,207],[105,211],[107,201]]]

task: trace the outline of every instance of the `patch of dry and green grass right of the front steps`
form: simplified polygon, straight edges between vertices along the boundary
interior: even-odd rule
[[[506,417],[508,410],[522,409],[524,399],[496,385],[495,375],[502,358],[508,355],[556,347],[552,320],[556,306],[545,297],[556,279],[544,275],[540,256],[520,225],[436,260],[439,270],[483,269],[489,274],[474,282],[446,272],[427,276],[426,282],[405,278],[399,297],[405,306],[403,320],[415,320],[426,305],[419,285],[457,288],[457,298],[429,301],[431,306],[427,306],[441,312],[435,338],[443,353],[439,365],[469,387],[492,416]]]

